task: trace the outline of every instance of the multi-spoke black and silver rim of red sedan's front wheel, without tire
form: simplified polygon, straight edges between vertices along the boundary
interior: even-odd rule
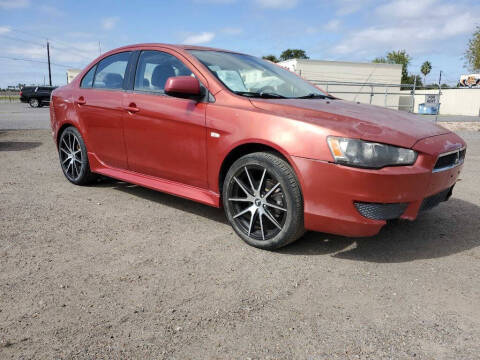
[[[268,240],[285,224],[286,199],[280,183],[265,168],[249,168],[244,167],[233,177],[228,201],[233,219],[246,235]]]

